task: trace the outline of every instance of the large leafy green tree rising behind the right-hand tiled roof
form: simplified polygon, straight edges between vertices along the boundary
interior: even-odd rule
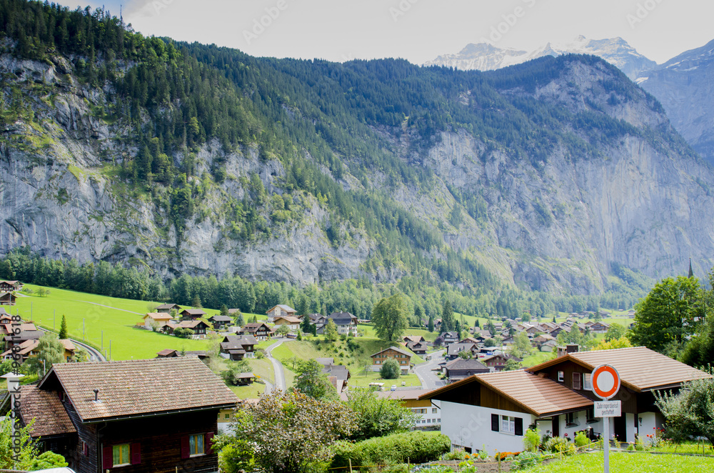
[[[656,352],[668,344],[681,344],[694,333],[695,317],[703,318],[703,291],[695,278],[667,278],[635,306],[630,341]]]

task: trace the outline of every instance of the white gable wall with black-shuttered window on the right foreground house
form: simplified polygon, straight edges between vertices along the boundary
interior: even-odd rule
[[[488,407],[469,406],[456,402],[441,402],[441,433],[451,439],[451,444],[471,447],[472,452],[484,447],[489,454],[523,451],[523,436],[493,432],[491,414],[521,417],[523,432],[533,424],[535,417],[522,412],[504,411]],[[500,428],[501,422],[499,422]]]

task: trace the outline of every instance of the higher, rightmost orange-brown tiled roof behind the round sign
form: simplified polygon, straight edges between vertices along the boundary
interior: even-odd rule
[[[710,374],[646,347],[570,353],[531,367],[528,371],[538,372],[565,360],[573,360],[591,370],[598,364],[611,364],[618,370],[622,384],[637,392],[677,387],[685,381],[711,377]]]

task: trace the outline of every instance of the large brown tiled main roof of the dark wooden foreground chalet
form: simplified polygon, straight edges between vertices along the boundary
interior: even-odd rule
[[[39,387],[59,379],[83,422],[208,409],[238,400],[196,357],[55,364]],[[100,402],[94,402],[94,389]]]

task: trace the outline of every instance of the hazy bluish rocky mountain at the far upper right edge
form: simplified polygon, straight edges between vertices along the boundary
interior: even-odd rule
[[[673,126],[714,164],[714,41],[685,51],[637,80],[664,106]]]

